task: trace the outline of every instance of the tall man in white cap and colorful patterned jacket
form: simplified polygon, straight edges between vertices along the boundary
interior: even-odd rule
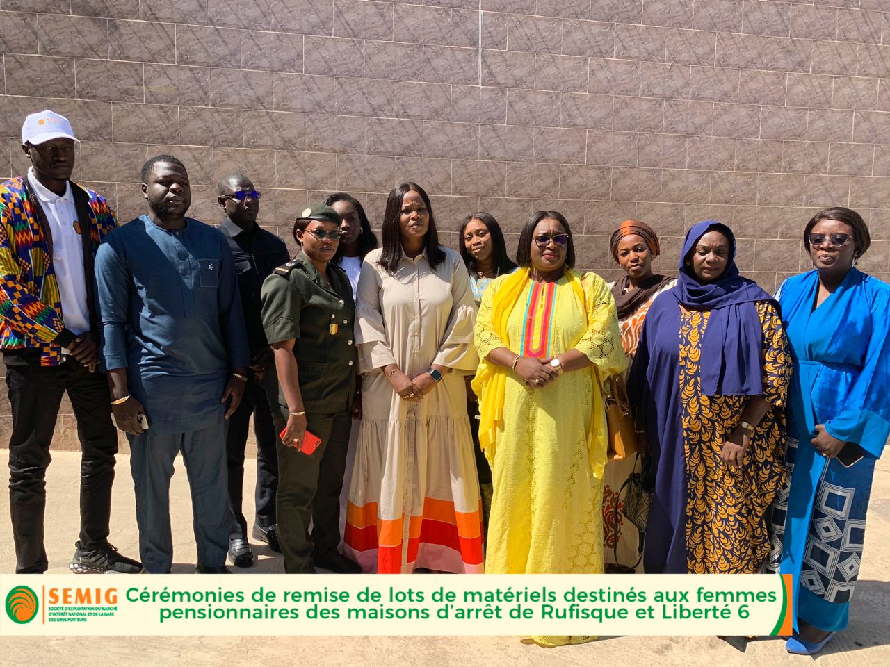
[[[9,489],[16,572],[41,573],[46,467],[68,392],[82,452],[80,539],[73,572],[135,573],[108,542],[117,431],[98,371],[93,259],[117,224],[108,203],[70,181],[77,138],[45,110],[21,127],[28,174],[0,185],[0,350],[12,406]]]

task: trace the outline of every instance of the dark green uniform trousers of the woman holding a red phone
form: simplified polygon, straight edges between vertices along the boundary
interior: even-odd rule
[[[307,413],[306,421],[321,444],[301,454],[276,438],[279,453],[279,543],[287,574],[312,574],[312,559],[336,553],[340,543],[340,490],[346,470],[346,449],[352,430],[349,413]],[[279,432],[286,421],[275,415]],[[309,525],[312,521],[312,536]]]

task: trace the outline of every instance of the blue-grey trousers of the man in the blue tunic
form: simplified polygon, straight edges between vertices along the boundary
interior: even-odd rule
[[[228,422],[221,420],[209,428],[186,433],[153,436],[148,430],[139,436],[127,436],[136,489],[139,555],[146,572],[169,572],[173,565],[170,478],[179,452],[189,477],[198,563],[206,567],[225,565],[231,523],[226,481],[227,426]]]

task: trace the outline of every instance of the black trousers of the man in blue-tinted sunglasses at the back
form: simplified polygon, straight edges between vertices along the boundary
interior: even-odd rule
[[[275,518],[275,494],[278,490],[278,454],[275,452],[275,425],[269,409],[266,393],[251,378],[244,389],[241,405],[229,419],[229,435],[226,437],[226,460],[229,468],[229,512],[231,514],[230,540],[247,540],[247,520],[241,509],[244,488],[244,449],[250,415],[254,416],[256,436],[256,524],[273,526]]]

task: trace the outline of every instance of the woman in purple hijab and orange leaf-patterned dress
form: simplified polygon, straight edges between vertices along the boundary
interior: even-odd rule
[[[769,551],[791,359],[776,302],[735,250],[724,224],[695,225],[643,323],[628,388],[655,470],[647,573],[756,573]]]

